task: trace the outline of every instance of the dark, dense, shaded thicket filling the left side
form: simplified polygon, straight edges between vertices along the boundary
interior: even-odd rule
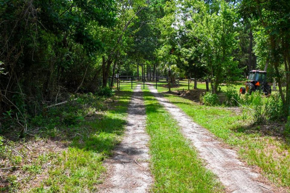
[[[0,119],[6,112],[26,128],[27,116],[67,100],[68,92],[94,91],[99,30],[114,25],[114,12],[112,0],[1,1]]]

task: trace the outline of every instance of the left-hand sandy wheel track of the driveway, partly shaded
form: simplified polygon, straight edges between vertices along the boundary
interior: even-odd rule
[[[140,85],[134,90],[128,107],[127,128],[123,141],[114,149],[114,156],[105,161],[108,168],[98,192],[146,193],[153,183],[148,160],[145,132],[146,115]]]

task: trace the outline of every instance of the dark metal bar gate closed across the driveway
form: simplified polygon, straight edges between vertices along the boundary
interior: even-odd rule
[[[156,89],[168,90],[168,80],[166,76],[119,76],[117,80],[117,88],[122,89],[135,89],[140,85],[141,89],[148,89],[154,87]]]

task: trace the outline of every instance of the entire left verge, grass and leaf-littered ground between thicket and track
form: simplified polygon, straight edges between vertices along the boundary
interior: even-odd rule
[[[0,144],[0,156],[4,160],[1,167],[5,164],[19,168],[5,170],[0,191],[96,191],[95,185],[101,182],[100,176],[105,172],[102,162],[121,141],[131,94],[132,91],[120,91],[106,100],[79,97],[74,101],[76,104],[55,107],[47,117],[36,117],[31,124],[43,127],[34,138],[4,138],[4,144]],[[52,148],[55,144],[57,147]]]

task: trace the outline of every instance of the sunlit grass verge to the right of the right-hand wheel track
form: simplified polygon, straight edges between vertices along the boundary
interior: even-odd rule
[[[261,128],[251,126],[251,116],[224,107],[208,107],[171,94],[164,96],[192,119],[236,149],[249,165],[259,166],[263,176],[277,186],[290,186],[290,145],[279,135],[279,124]]]

